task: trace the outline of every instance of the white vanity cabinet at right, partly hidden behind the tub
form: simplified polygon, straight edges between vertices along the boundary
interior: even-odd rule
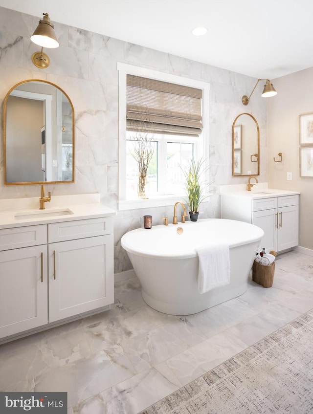
[[[252,197],[252,198],[251,198]],[[264,230],[260,247],[280,252],[298,245],[299,196],[221,195],[221,217],[246,221]]]

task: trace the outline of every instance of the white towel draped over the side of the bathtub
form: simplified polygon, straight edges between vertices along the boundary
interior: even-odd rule
[[[205,244],[196,247],[199,256],[198,289],[200,293],[229,284],[228,244]]]

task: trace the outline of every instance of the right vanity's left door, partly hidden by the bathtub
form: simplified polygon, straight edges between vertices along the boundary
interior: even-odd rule
[[[251,223],[264,231],[260,249],[264,247],[267,251],[277,251],[277,209],[254,211]]]

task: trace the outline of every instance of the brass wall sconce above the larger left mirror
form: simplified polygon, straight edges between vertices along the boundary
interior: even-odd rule
[[[48,55],[44,53],[44,47],[48,47],[50,49],[59,47],[59,42],[54,33],[54,27],[50,22],[49,15],[48,13],[43,13],[43,15],[43,20],[39,21],[37,29],[34,31],[32,36],[30,36],[30,40],[33,43],[41,46],[41,52],[35,52],[31,57],[33,64],[41,69],[49,66],[50,64]]]

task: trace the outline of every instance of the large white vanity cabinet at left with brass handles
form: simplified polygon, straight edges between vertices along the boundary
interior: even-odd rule
[[[0,338],[109,308],[113,278],[111,217],[0,229]]]

